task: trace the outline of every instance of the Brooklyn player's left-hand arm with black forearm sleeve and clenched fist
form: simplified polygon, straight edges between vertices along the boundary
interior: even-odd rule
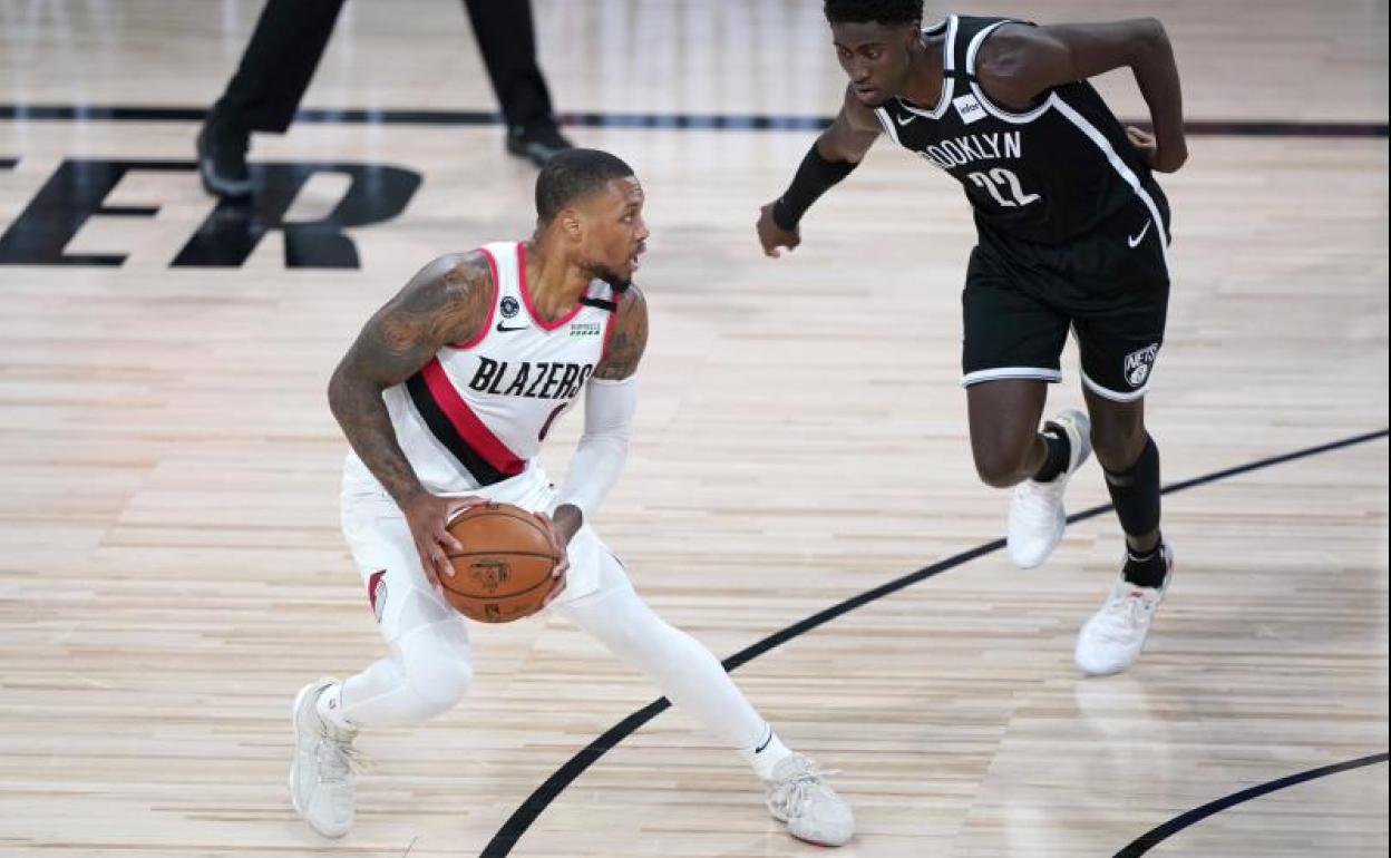
[[[801,243],[797,229],[801,216],[832,185],[850,175],[878,138],[879,122],[874,113],[860,103],[851,86],[846,86],[840,113],[803,159],[791,186],[758,213],[758,243],[765,254],[778,257],[779,248],[793,250]]]

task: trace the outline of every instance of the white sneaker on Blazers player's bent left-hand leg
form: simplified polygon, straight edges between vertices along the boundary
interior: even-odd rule
[[[295,698],[295,759],[289,763],[289,801],[324,837],[342,837],[352,827],[356,730],[344,730],[319,716],[319,697],[338,680],[321,679]]]

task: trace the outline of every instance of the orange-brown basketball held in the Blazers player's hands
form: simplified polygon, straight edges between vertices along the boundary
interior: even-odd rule
[[[445,599],[480,623],[510,623],[541,609],[556,580],[555,552],[536,517],[510,503],[470,506],[449,521],[463,544],[451,553],[453,577],[444,577]]]

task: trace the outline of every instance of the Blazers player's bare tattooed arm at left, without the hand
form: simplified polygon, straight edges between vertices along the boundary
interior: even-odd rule
[[[483,253],[441,256],[367,320],[328,381],[328,407],[353,451],[396,503],[424,488],[396,442],[381,392],[415,375],[487,323],[492,271]]]

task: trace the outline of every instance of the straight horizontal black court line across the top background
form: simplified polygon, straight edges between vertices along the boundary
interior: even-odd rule
[[[139,104],[0,104],[0,120],[90,122],[202,122],[204,107]],[[668,128],[696,131],[821,131],[830,117],[723,113],[562,113],[576,128]],[[296,122],[345,125],[501,125],[487,110],[300,110]],[[1145,120],[1129,124],[1148,125]],[[1385,138],[1387,122],[1195,121],[1184,129],[1202,136],[1248,138]]]

